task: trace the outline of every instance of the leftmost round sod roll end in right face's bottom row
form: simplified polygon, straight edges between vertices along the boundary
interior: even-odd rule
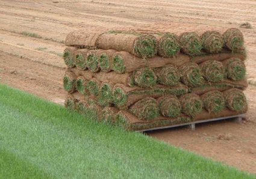
[[[140,120],[153,120],[160,115],[157,100],[152,97],[145,97],[134,103],[130,111]]]

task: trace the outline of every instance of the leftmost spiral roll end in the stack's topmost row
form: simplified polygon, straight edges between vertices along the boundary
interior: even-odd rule
[[[157,52],[157,40],[153,35],[140,35],[134,41],[134,53],[140,58],[151,58]]]

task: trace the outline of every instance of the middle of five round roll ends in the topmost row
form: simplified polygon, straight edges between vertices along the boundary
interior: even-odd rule
[[[190,56],[196,56],[201,53],[202,41],[196,32],[184,32],[180,35],[181,51]]]

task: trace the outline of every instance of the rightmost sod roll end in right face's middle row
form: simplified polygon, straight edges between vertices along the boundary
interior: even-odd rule
[[[242,80],[245,78],[245,63],[239,58],[229,58],[223,61],[226,77],[231,80]]]

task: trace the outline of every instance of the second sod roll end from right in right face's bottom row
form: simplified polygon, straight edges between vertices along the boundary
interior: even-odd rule
[[[209,113],[219,113],[225,108],[225,98],[220,91],[209,91],[201,96],[204,108]]]

